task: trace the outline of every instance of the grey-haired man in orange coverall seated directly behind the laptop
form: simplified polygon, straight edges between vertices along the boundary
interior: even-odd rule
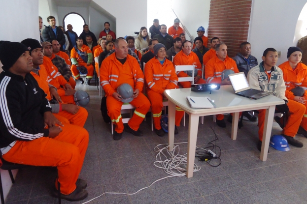
[[[227,56],[227,46],[225,43],[219,43],[215,46],[215,56],[211,58],[205,66],[206,82],[208,84],[231,85],[229,78],[225,78],[223,81],[221,80],[222,72],[225,69],[231,69],[234,70],[235,73],[239,73],[236,61]],[[226,127],[222,114],[216,115],[216,124],[220,127]]]

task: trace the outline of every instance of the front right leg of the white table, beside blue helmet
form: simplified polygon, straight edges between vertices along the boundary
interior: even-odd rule
[[[263,137],[262,137],[262,146],[260,159],[262,161],[267,161],[269,144],[271,139],[272,125],[273,125],[273,117],[275,112],[275,106],[269,106],[266,111],[266,118],[264,121],[264,129],[263,129]]]

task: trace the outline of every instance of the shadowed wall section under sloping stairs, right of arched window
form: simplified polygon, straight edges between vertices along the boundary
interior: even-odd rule
[[[104,22],[109,22],[110,29],[116,33],[115,21],[102,15],[101,12],[97,11],[91,6],[89,7],[89,14],[90,14],[89,24],[91,27],[91,31],[96,35],[97,40],[99,37],[99,33],[104,29]]]

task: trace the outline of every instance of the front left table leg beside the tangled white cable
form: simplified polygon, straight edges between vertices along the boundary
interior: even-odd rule
[[[195,116],[193,114],[189,116],[188,164],[187,164],[187,174],[186,174],[188,178],[191,178],[193,176],[198,121],[199,121],[199,116]]]

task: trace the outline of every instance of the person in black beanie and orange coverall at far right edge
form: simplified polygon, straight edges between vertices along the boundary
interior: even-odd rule
[[[296,102],[307,106],[307,66],[301,62],[303,51],[299,47],[290,47],[288,49],[287,58],[288,61],[283,62],[278,67],[283,72],[283,80],[286,85],[285,96]],[[291,91],[293,88],[302,87],[302,95],[296,96]],[[305,89],[305,91],[304,91]],[[306,107],[307,108],[307,107]],[[278,123],[283,121],[278,117],[274,118]],[[303,116],[301,125],[298,130],[298,134],[302,134],[307,137],[307,111]]]

